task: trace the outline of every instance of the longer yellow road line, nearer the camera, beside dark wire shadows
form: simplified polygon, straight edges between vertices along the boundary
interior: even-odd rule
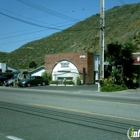
[[[77,109],[72,109],[72,108],[64,108],[64,107],[49,106],[49,105],[34,104],[34,103],[26,103],[26,105],[37,106],[37,107],[45,107],[45,108],[51,108],[51,109],[57,109],[57,110],[65,110],[65,111],[78,112],[78,113],[84,113],[84,114],[89,114],[89,115],[96,115],[96,116],[102,116],[102,117],[110,117],[110,118],[140,122],[140,120],[138,120],[138,119],[125,118],[125,117],[114,116],[114,115],[106,115],[106,114],[100,114],[100,113],[95,113],[95,112],[90,112],[90,111],[85,111],[85,110],[77,110]]]

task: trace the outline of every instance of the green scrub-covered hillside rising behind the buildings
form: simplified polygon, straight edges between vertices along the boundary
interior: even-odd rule
[[[111,41],[132,42],[140,50],[140,3],[117,6],[105,12],[105,44]],[[0,62],[16,68],[27,68],[31,61],[38,66],[46,54],[82,52],[98,53],[99,14],[49,37],[29,42],[19,49],[3,55]]]

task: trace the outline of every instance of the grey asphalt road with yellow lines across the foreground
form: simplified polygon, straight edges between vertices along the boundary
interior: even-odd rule
[[[140,94],[92,88],[0,87],[0,140],[128,140]]]

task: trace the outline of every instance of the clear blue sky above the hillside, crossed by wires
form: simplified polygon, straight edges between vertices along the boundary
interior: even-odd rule
[[[108,10],[140,0],[104,2]],[[0,52],[12,52],[97,13],[100,0],[0,0]]]

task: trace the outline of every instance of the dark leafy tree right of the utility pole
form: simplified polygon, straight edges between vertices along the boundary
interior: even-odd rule
[[[131,43],[122,45],[116,42],[107,45],[105,54],[105,60],[109,62],[107,70],[110,72],[115,84],[127,85],[128,81],[133,81],[135,74],[132,53],[135,50],[136,47]]]

